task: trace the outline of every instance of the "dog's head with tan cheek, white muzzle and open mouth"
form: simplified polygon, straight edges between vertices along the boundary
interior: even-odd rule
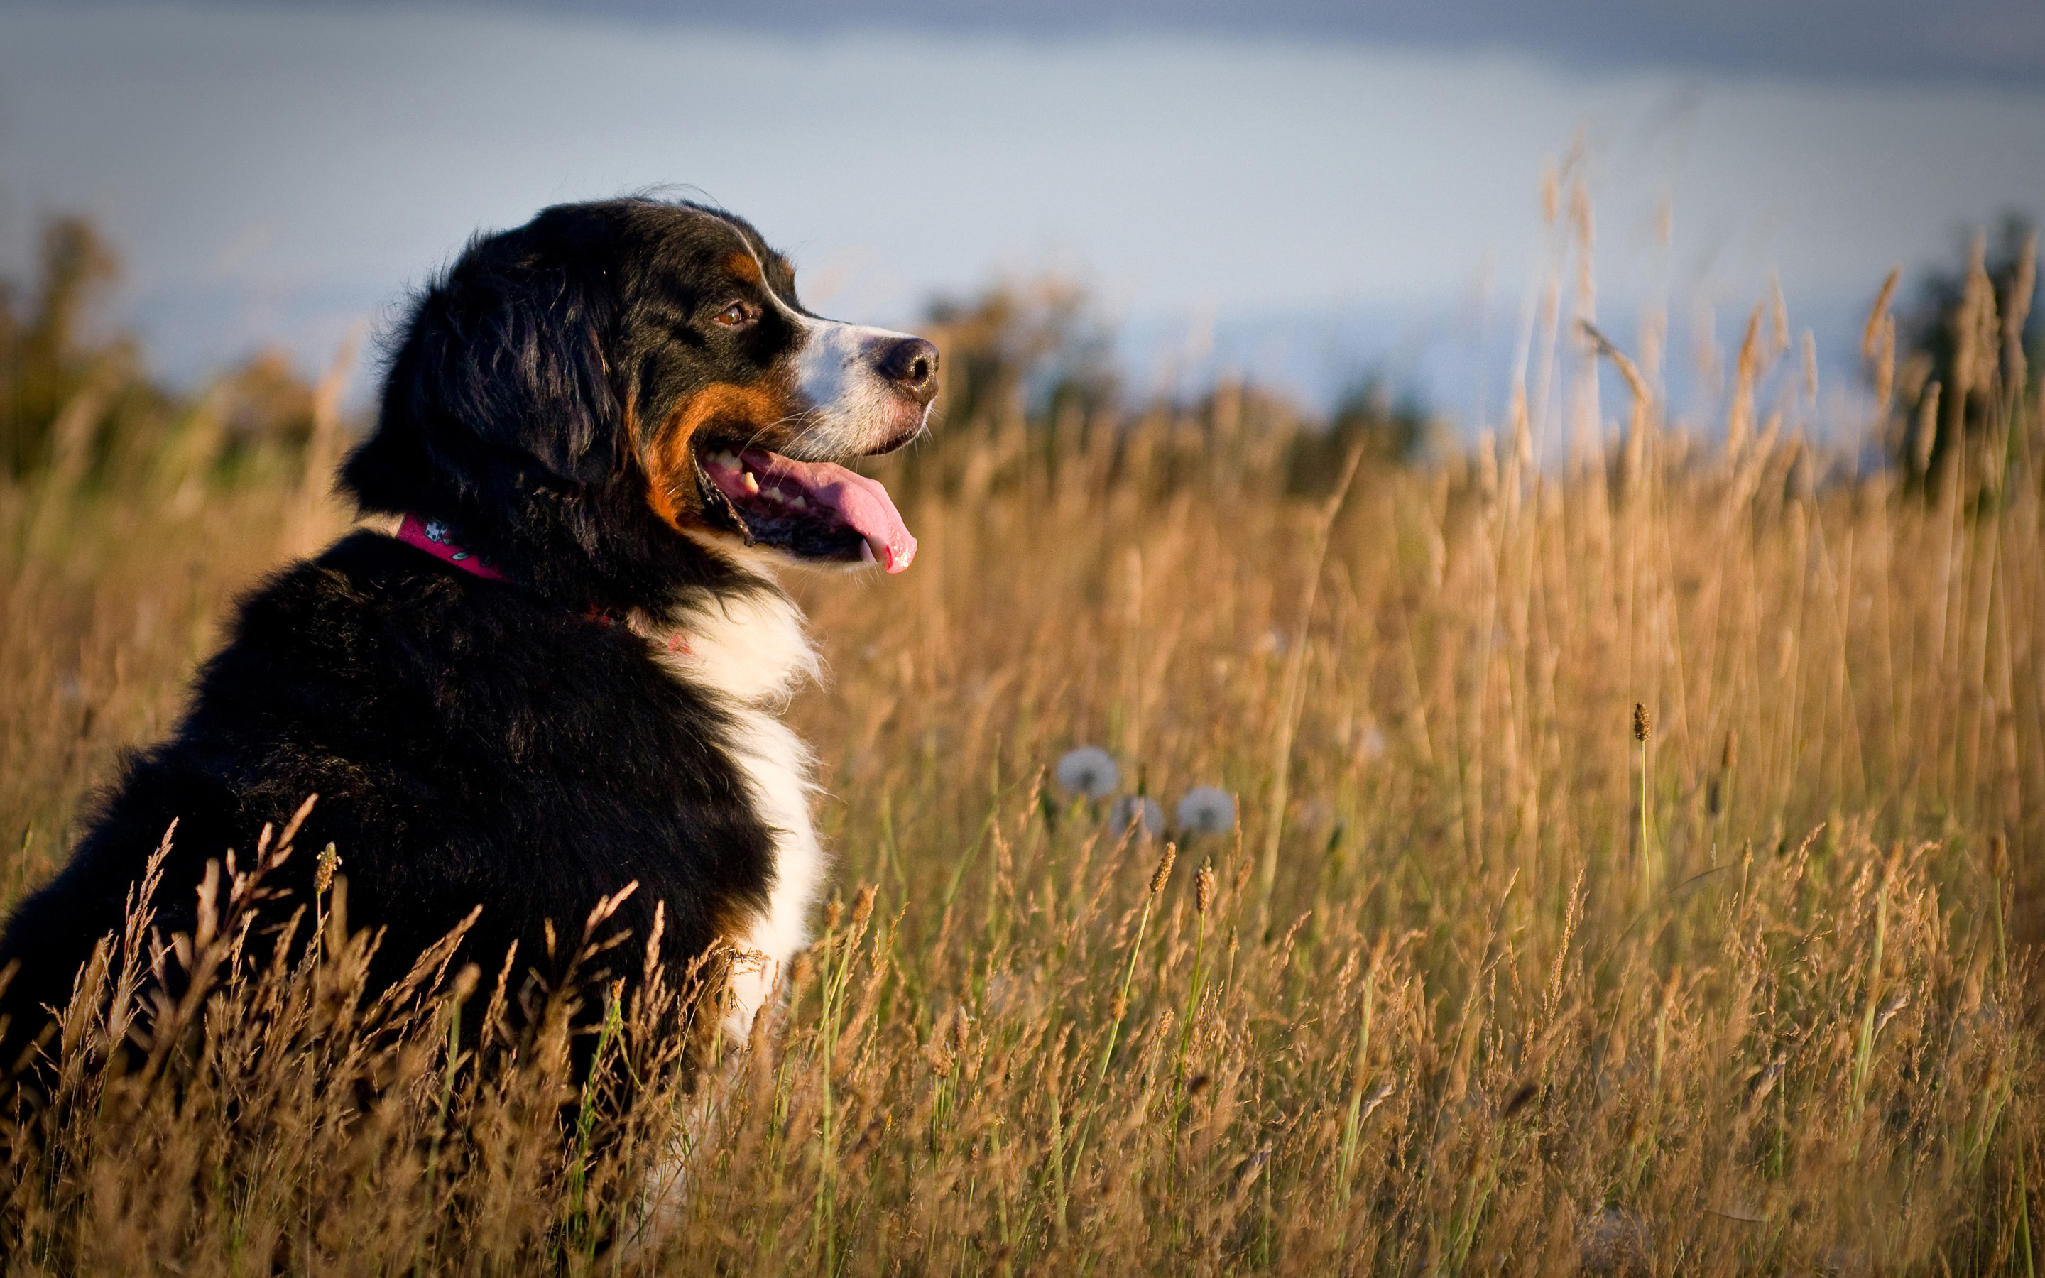
[[[843,462],[914,440],[935,397],[935,346],[812,315],[744,221],[562,204],[476,239],[419,296],[342,483],[485,548],[519,544],[509,511],[589,552],[681,538],[900,573],[916,540]]]

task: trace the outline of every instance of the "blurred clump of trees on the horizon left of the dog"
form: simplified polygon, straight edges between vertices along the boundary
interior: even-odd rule
[[[233,481],[303,468],[317,395],[276,350],[198,391],[168,386],[104,325],[121,260],[84,217],[53,217],[35,278],[0,280],[0,476]]]

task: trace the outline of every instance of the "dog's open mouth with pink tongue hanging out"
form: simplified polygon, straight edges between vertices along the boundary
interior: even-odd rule
[[[761,448],[708,442],[695,450],[695,466],[712,511],[722,513],[748,546],[773,546],[806,560],[881,564],[890,573],[916,558],[916,538],[888,489],[836,462],[798,462]]]

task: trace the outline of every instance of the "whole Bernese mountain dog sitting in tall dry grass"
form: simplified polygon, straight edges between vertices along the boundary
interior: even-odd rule
[[[0,937],[0,1067],[33,1065],[172,822],[162,937],[194,930],[209,861],[247,865],[315,793],[297,847],[333,845],[350,926],[382,934],[372,988],[479,906],[462,957],[550,979],[550,934],[636,885],[609,922],[632,943],[581,975],[636,986],[656,930],[673,986],[728,949],[742,1037],[826,871],[779,720],[818,658],[775,575],[908,568],[888,491],[843,462],[914,440],[935,395],[933,344],[810,313],[718,209],[560,204],[470,241],[393,333],[339,472],[397,534],[241,599],[174,736],[125,761]],[[266,908],[317,873],[284,859]]]

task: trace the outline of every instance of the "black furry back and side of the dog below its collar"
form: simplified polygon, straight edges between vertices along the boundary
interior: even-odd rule
[[[495,971],[517,943],[521,969],[552,977],[546,924],[560,949],[628,883],[616,926],[646,937],[661,908],[667,951],[699,955],[730,932],[720,914],[763,910],[773,885],[732,728],[724,697],[632,630],[354,534],[243,601],[176,734],[129,761],[70,865],[16,910],[8,1059],[121,930],[174,820],[151,902],[164,937],[194,930],[207,861],[237,849],[247,867],[262,826],[315,793],[262,918],[313,900],[331,842],[348,924],[382,932],[376,986],[479,904],[464,959]]]

